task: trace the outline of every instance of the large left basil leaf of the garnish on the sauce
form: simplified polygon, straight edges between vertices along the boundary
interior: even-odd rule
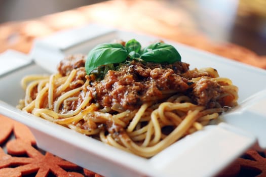
[[[85,62],[85,70],[90,74],[101,65],[121,63],[127,59],[128,52],[120,43],[103,43],[92,49]]]

